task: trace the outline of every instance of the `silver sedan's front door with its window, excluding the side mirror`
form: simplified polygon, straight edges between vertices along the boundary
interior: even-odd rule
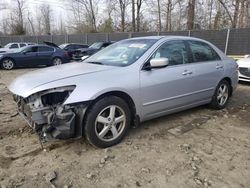
[[[167,67],[140,72],[143,119],[161,116],[195,102],[192,97],[195,75],[193,65],[189,64],[186,44],[182,40],[168,41],[151,59],[160,57],[168,58]]]

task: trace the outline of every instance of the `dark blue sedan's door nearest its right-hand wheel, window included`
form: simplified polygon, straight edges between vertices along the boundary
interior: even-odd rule
[[[49,46],[39,46],[38,47],[38,64],[39,65],[50,65],[52,61],[52,55],[54,53],[54,48]]]

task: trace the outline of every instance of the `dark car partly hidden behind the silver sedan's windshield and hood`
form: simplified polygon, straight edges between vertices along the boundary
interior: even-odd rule
[[[90,47],[88,48],[80,48],[77,49],[75,54],[73,55],[74,60],[81,60],[82,57],[89,57],[96,52],[100,51],[103,48],[106,48],[107,46],[113,44],[114,42],[109,41],[109,42],[96,42],[93,43]]]

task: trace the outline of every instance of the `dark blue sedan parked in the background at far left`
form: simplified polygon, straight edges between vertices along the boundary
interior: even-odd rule
[[[66,51],[48,45],[33,45],[20,48],[12,53],[0,54],[0,65],[5,70],[16,67],[60,65],[69,61],[70,57]]]

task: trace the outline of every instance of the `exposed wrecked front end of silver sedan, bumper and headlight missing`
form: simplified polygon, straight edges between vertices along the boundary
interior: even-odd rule
[[[82,136],[82,121],[87,105],[63,104],[74,89],[75,86],[49,89],[27,98],[14,95],[19,113],[42,141]]]

